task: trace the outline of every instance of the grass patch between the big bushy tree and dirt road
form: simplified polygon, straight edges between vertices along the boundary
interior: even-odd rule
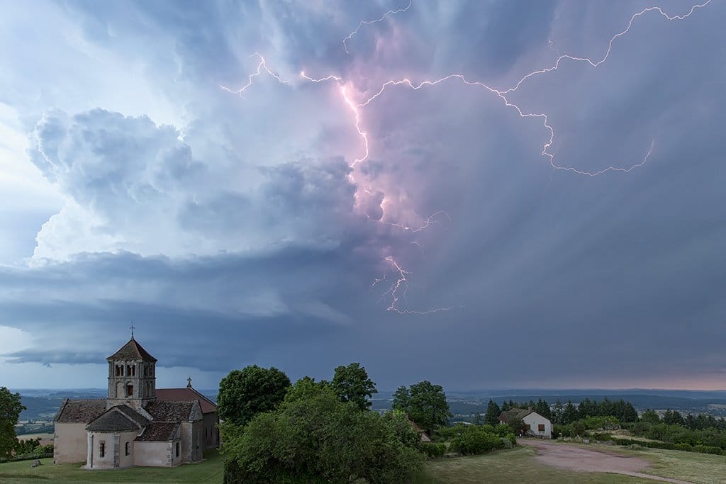
[[[518,446],[483,456],[436,459],[426,464],[418,484],[433,483],[603,483],[634,484],[656,481],[598,472],[555,469],[534,460],[534,448]]]

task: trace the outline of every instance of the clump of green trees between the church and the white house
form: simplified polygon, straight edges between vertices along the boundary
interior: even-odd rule
[[[420,432],[445,425],[444,389],[399,387],[393,410],[370,411],[377,393],[363,366],[335,368],[333,379],[291,384],[275,368],[253,365],[221,380],[225,483],[408,482],[425,459]]]

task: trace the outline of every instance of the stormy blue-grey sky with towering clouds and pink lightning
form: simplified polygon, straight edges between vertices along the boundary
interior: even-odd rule
[[[726,4],[651,1],[0,0],[0,385],[726,388]]]

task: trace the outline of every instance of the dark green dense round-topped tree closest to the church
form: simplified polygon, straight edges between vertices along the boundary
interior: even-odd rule
[[[287,375],[274,367],[232,370],[219,382],[217,415],[224,422],[245,425],[256,414],[276,409],[289,386]]]

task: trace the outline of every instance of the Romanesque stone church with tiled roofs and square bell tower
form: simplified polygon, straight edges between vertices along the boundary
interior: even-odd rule
[[[107,398],[66,399],[55,416],[54,462],[86,469],[172,467],[219,446],[216,405],[192,388],[156,388],[156,358],[131,340],[108,361]]]

